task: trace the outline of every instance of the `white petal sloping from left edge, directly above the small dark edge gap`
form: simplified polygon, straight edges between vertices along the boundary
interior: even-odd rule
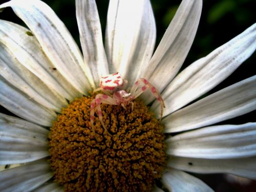
[[[15,115],[43,126],[51,126],[56,113],[12,87],[0,76],[0,104]]]

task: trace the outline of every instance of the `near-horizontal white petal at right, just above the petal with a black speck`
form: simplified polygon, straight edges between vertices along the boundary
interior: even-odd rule
[[[178,134],[165,140],[168,155],[229,159],[256,154],[256,123],[217,125]]]

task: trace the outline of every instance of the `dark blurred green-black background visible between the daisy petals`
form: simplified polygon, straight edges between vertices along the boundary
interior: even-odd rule
[[[0,0],[0,3],[4,2],[7,1]],[[45,0],[44,2],[47,3],[66,24],[67,28],[70,30],[71,34],[79,45],[79,33],[75,17],[75,1]],[[172,20],[180,2],[181,0],[151,0],[157,25],[156,47],[159,44],[170,21]],[[96,0],[96,3],[104,34],[109,1]],[[255,1],[253,0],[204,0],[197,35],[182,69],[200,57],[206,56],[208,53],[223,45],[225,42],[242,33],[245,29],[251,26],[255,22],[255,7]],[[7,8],[3,11],[3,13],[0,13],[0,19],[11,20],[15,23],[24,25],[22,21],[13,14],[10,8]],[[223,89],[230,84],[255,75],[256,73],[254,68],[255,54],[247,59],[224,82],[222,82],[214,90],[210,91],[209,94]],[[238,118],[221,122],[220,124],[241,124],[249,121],[255,122],[255,117],[256,113],[253,111]],[[255,181],[251,182],[249,185],[242,186],[238,183],[228,182],[225,179],[225,175],[221,174],[197,174],[196,176],[202,179],[216,191],[256,191]]]

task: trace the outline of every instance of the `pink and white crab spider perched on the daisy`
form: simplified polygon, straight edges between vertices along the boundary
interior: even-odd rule
[[[99,120],[103,128],[105,129],[105,131],[108,133],[108,130],[106,129],[105,124],[103,123],[103,120],[102,120],[102,111],[100,108],[100,103],[114,104],[114,105],[121,104],[121,106],[125,110],[126,110],[126,105],[129,105],[131,103],[132,110],[133,110],[133,107],[134,107],[133,100],[137,98],[140,94],[142,94],[144,91],[146,91],[147,89],[151,89],[152,94],[160,102],[161,104],[160,115],[162,118],[163,108],[165,107],[164,102],[159,92],[156,90],[154,86],[152,86],[150,82],[148,82],[144,78],[139,78],[130,89],[130,93],[123,90],[125,89],[126,84],[127,84],[127,80],[122,79],[119,72],[100,78],[100,85],[99,85],[100,87],[98,89],[95,89],[94,92],[102,91],[104,94],[97,94],[95,96],[95,99],[93,99],[91,102],[90,120],[91,120],[91,126],[92,126],[93,132],[94,132],[94,124],[93,124],[94,110],[96,107],[98,111]]]

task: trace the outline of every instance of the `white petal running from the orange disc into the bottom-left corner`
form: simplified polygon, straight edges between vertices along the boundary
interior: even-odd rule
[[[47,160],[3,170],[0,174],[1,191],[32,191],[52,177]]]

